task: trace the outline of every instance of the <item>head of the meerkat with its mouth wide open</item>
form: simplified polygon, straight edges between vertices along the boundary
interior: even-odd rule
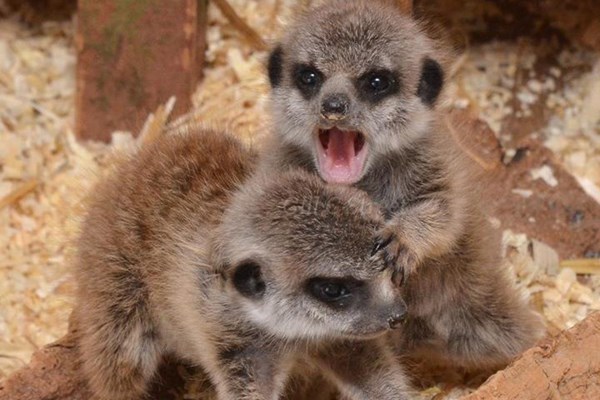
[[[269,57],[275,130],[327,182],[426,134],[444,73],[433,42],[378,1],[333,1],[292,24]]]

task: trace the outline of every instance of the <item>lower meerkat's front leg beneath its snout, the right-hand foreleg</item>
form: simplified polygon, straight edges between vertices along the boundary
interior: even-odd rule
[[[315,360],[346,399],[411,398],[408,378],[386,338],[340,342],[320,352]]]

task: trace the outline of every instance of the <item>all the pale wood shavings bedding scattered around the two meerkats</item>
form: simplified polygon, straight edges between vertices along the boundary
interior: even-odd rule
[[[303,3],[231,1],[267,41]],[[75,141],[73,33],[73,21],[29,28],[16,18],[0,20],[0,379],[66,332],[73,293],[69,243],[82,200],[111,157],[136,145],[127,132],[116,132],[111,145]],[[260,143],[268,131],[266,52],[253,50],[212,7],[208,43],[194,109],[169,127],[203,123]],[[533,134],[556,152],[588,193],[598,195],[600,58],[565,49],[556,65],[540,73],[534,69],[536,50],[527,42],[467,49],[449,85],[449,105],[474,110],[508,146],[504,119],[512,113],[526,117],[543,102],[553,117]],[[577,74],[565,76],[573,64]],[[515,76],[523,71],[528,79],[516,86]],[[158,110],[144,137],[163,128],[168,111]],[[506,231],[504,247],[507,267],[551,333],[600,309],[599,276],[560,268],[551,248],[519,233]],[[192,386],[194,392],[203,385]],[[440,390],[432,388],[424,396]]]

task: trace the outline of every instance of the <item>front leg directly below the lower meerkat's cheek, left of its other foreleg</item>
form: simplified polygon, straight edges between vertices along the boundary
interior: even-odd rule
[[[260,347],[252,344],[229,346],[218,352],[218,370],[214,378],[219,400],[280,398],[293,357],[281,348],[267,348],[261,344]]]

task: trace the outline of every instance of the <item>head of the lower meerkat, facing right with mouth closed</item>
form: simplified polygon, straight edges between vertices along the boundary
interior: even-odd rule
[[[400,325],[400,289],[371,255],[383,219],[364,193],[300,172],[245,186],[216,253],[250,321],[285,339],[367,338]]]

